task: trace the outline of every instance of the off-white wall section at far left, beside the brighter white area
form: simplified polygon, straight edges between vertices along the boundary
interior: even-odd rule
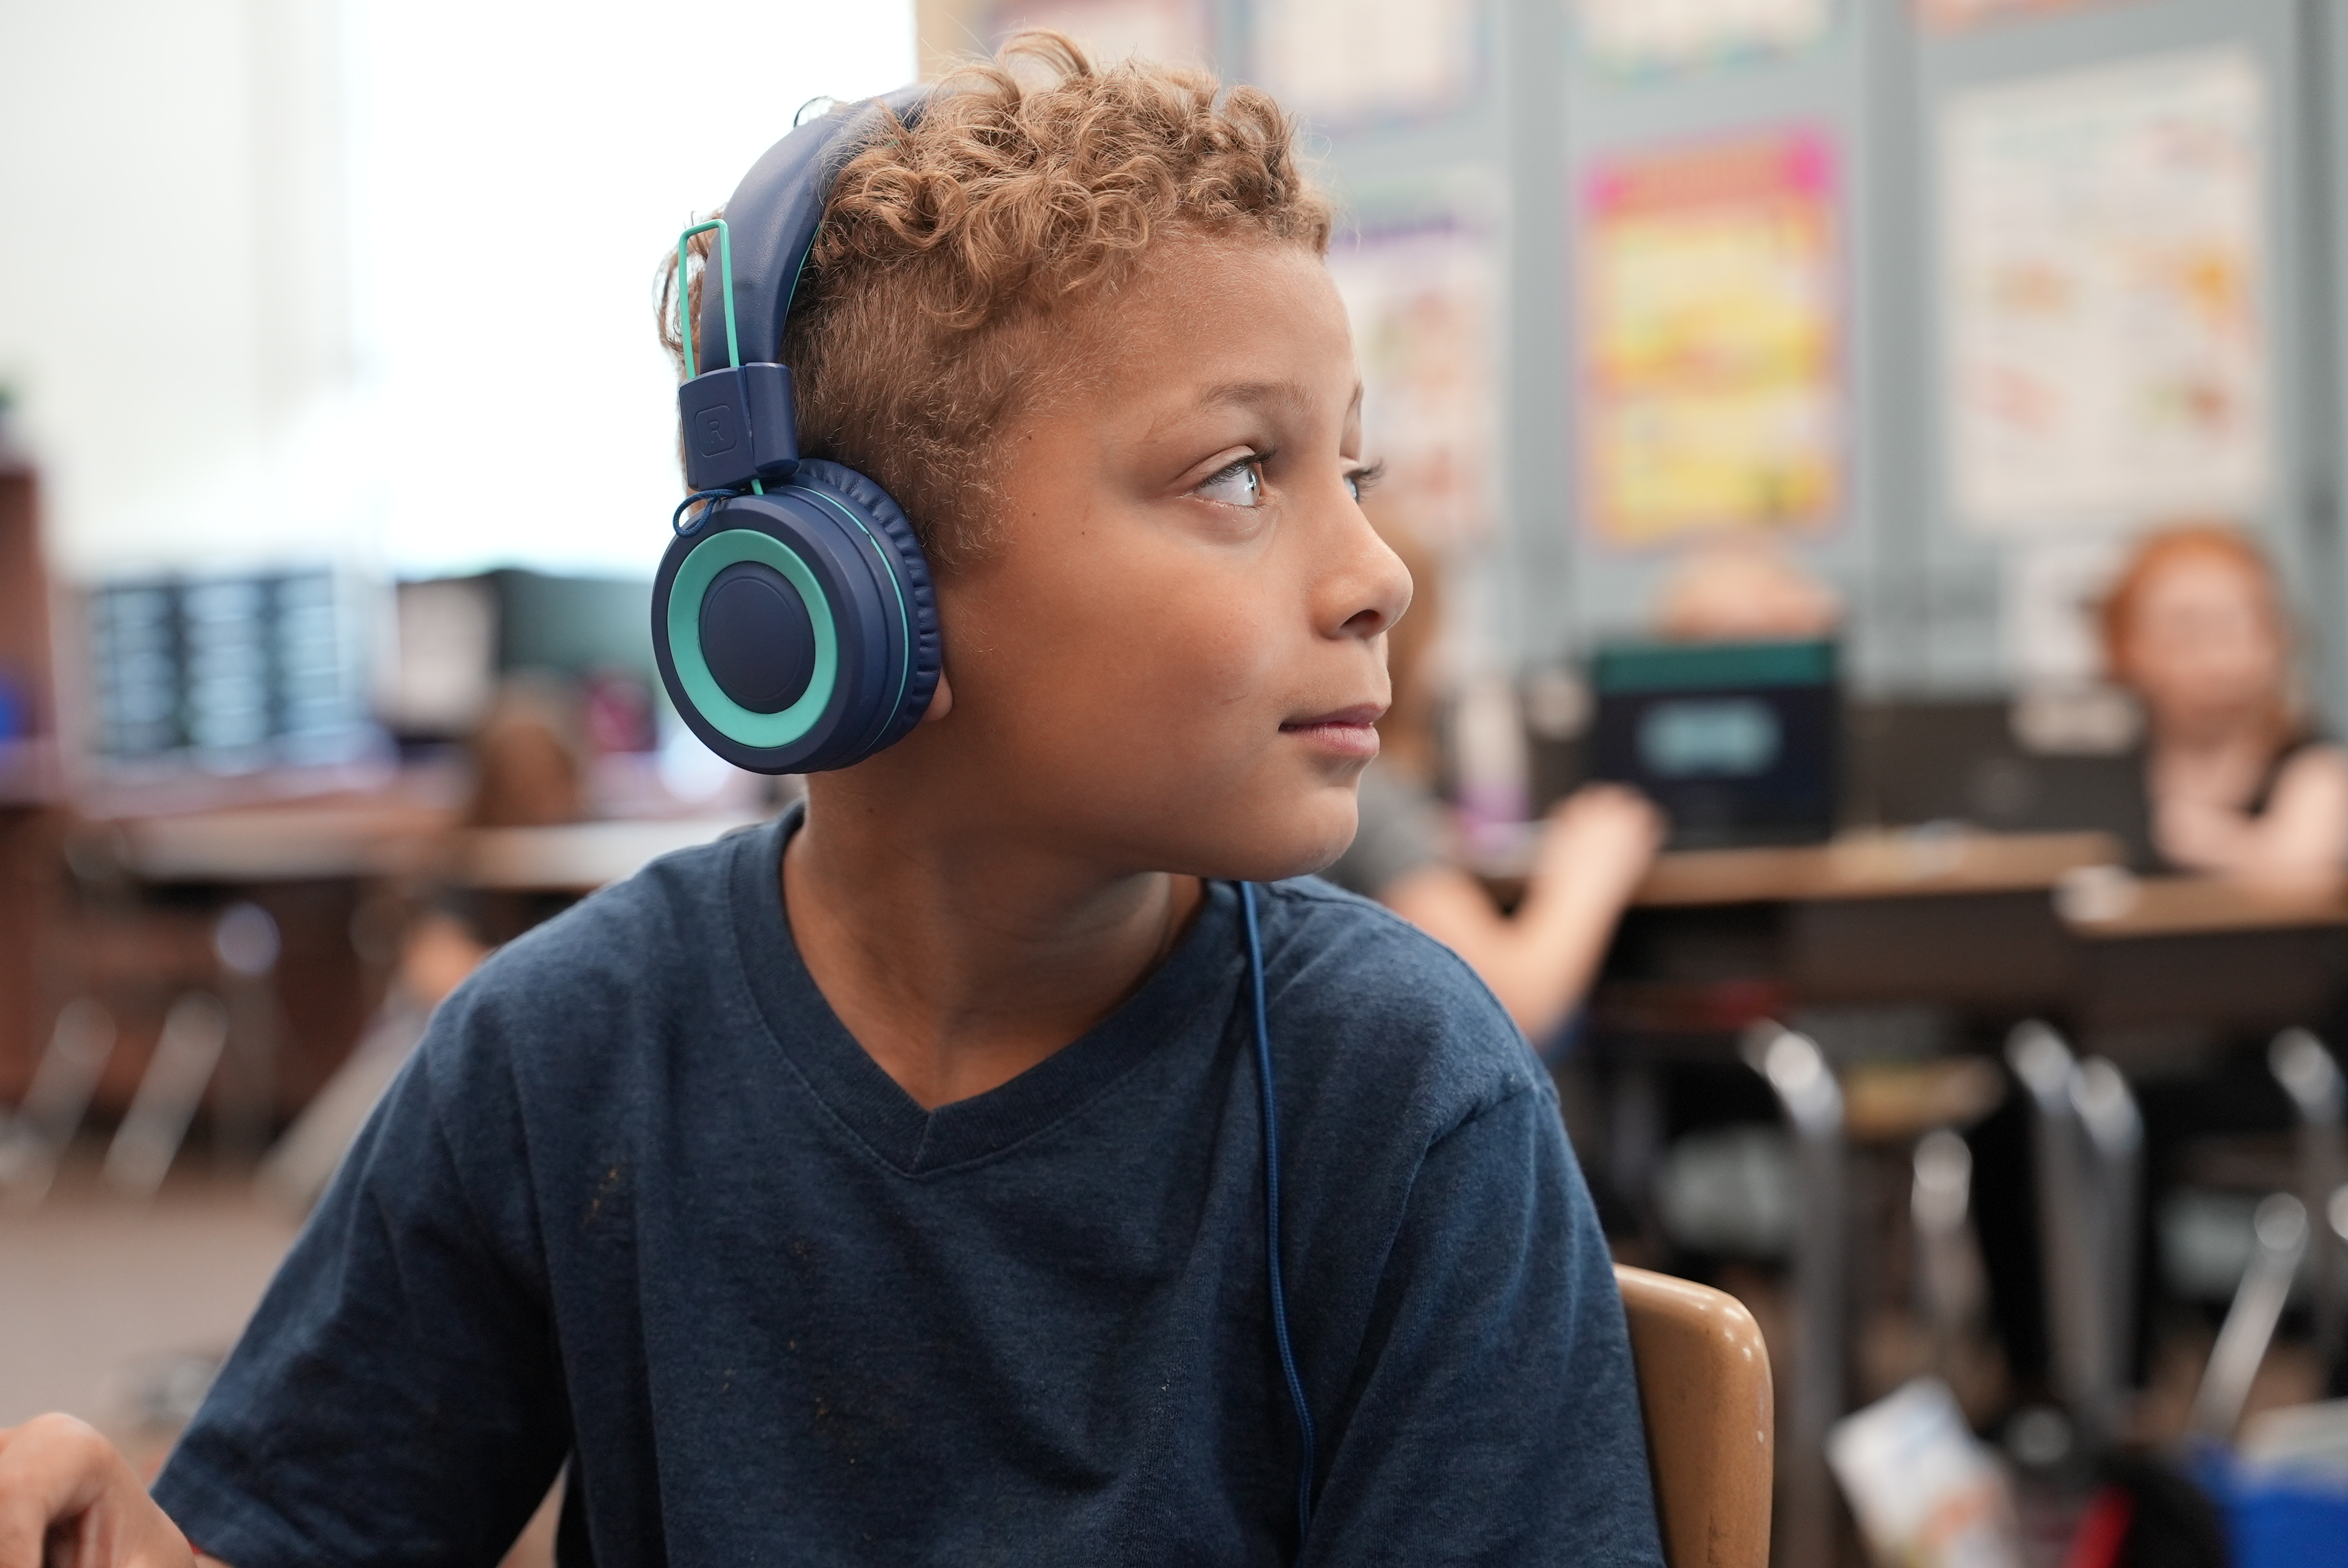
[[[70,577],[340,530],[312,465],[350,376],[340,21],[0,7],[0,385]]]

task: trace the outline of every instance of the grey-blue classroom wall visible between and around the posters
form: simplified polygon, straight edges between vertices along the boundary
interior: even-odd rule
[[[927,0],[925,59],[993,38],[1019,14],[1059,26],[1111,19],[1132,0]],[[1226,77],[1254,70],[1254,0],[1207,0]],[[1458,603],[1512,662],[1578,657],[1634,634],[1669,549],[1594,538],[1578,498],[1576,190],[1594,162],[1721,134],[1808,127],[1838,164],[1846,474],[1834,523],[1792,542],[1850,606],[1860,690],[1984,695],[2029,674],[2017,653],[2012,542],[1951,516],[1944,465],[1937,256],[1937,127],[1951,94],[2177,49],[2233,45],[2266,89],[2266,277],[2275,408],[2268,502],[2242,519],[2280,559],[2308,627],[2310,674],[2348,721],[2348,608],[2336,542],[2348,376],[2334,296],[2348,254],[2329,113],[2348,80],[2339,0],[2106,0],[1923,28],[1911,0],[1838,0],[1817,42],[1714,66],[1620,75],[1590,61],[1571,0],[1482,0],[1486,82],[1460,108],[1369,129],[1310,127],[1343,197],[1482,171],[1505,192],[1507,345],[1503,526],[1468,552]],[[944,45],[942,45],[944,40]],[[2141,519],[2139,519],[2141,521]],[[2036,657],[2036,655],[2033,655]]]

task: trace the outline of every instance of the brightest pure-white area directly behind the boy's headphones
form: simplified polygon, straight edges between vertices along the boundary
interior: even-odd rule
[[[913,77],[911,5],[378,0],[357,59],[385,549],[650,575],[681,495],[660,258],[801,103]]]

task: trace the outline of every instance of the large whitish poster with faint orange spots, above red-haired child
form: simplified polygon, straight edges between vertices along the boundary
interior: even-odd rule
[[[2268,491],[2263,94],[2235,49],[1944,110],[1956,514],[1984,530],[2240,516]]]

